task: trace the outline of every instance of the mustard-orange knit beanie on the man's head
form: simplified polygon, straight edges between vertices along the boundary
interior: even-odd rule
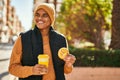
[[[48,13],[48,15],[49,15],[49,17],[51,19],[51,25],[53,26],[54,22],[55,22],[55,9],[54,9],[54,5],[52,5],[50,3],[37,3],[37,4],[35,4],[35,7],[34,7],[34,14],[40,8],[44,9]]]

